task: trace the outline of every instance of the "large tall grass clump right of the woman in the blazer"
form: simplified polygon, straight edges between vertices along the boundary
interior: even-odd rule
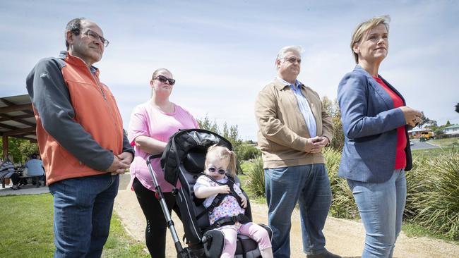
[[[434,233],[459,240],[459,153],[415,162],[417,166],[407,173],[409,219]]]

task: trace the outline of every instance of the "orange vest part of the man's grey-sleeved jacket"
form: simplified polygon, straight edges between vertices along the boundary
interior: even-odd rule
[[[99,80],[99,71],[93,75],[83,60],[67,55],[66,66],[61,69],[70,92],[75,111],[74,120],[104,149],[117,155],[123,149],[123,123],[112,92]],[[47,184],[51,185],[66,178],[100,175],[97,171],[81,163],[75,156],[59,145],[52,135],[44,130],[40,116],[37,119],[37,141]]]

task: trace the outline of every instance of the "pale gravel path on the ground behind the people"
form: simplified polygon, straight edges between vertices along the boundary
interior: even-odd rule
[[[254,222],[267,223],[268,209],[264,204],[251,204]],[[139,241],[145,238],[145,217],[141,207],[138,205],[136,195],[131,190],[120,190],[115,199],[115,212],[121,218],[126,230]],[[172,216],[175,222],[179,238],[184,233],[180,220]],[[299,211],[292,214],[292,231],[290,232],[290,246],[292,257],[305,257],[302,252],[302,237],[300,227]],[[170,250],[167,257],[177,257],[172,242],[172,237],[168,231],[167,249]],[[326,248],[342,257],[360,257],[364,243],[364,228],[361,223],[335,219],[328,217],[324,229],[326,235]],[[403,233],[397,240],[394,257],[459,257],[459,245],[454,245],[442,240],[429,238],[407,238]]]

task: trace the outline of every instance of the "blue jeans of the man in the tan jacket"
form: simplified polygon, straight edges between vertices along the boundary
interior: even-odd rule
[[[290,257],[290,217],[299,202],[303,251],[325,252],[322,230],[331,205],[330,180],[323,164],[265,169],[268,224],[274,257]]]

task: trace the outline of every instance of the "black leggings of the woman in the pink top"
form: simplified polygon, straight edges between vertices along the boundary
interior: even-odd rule
[[[160,201],[156,199],[155,192],[145,188],[137,178],[134,178],[132,186],[134,192],[136,192],[138,203],[141,204],[143,214],[147,219],[145,242],[148,251],[151,257],[164,258],[166,256],[167,225]],[[164,192],[164,197],[169,213],[174,209],[180,218],[179,207],[175,203],[175,197],[172,195],[172,192]]]

